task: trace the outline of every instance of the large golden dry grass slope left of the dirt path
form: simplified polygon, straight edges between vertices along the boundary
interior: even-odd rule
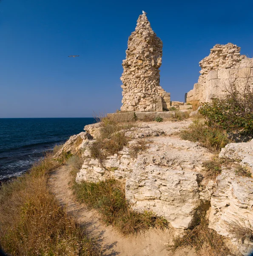
[[[98,255],[74,219],[48,190],[48,174],[60,166],[46,156],[30,172],[0,188],[0,243],[6,253]]]

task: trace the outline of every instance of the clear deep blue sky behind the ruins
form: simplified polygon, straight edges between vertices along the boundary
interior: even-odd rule
[[[184,100],[215,44],[253,57],[252,0],[2,0],[0,117],[119,109],[121,64],[142,10],[163,41],[160,81],[172,100]]]

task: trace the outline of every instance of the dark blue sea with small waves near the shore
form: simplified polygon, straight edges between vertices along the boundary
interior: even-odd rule
[[[0,181],[26,172],[94,118],[0,118]]]

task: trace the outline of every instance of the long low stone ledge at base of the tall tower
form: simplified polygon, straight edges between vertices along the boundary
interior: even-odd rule
[[[171,119],[175,117],[174,111],[166,112],[122,112],[122,113],[109,113],[109,117],[117,119],[119,122],[131,122],[134,120],[145,120],[145,119],[155,119],[157,116],[163,119]]]

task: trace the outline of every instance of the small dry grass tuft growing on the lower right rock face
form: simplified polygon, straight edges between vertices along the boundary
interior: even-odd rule
[[[253,242],[253,231],[248,227],[243,227],[239,223],[232,221],[227,222],[227,232],[230,233],[237,241],[241,241],[243,244],[244,241],[246,243]]]

